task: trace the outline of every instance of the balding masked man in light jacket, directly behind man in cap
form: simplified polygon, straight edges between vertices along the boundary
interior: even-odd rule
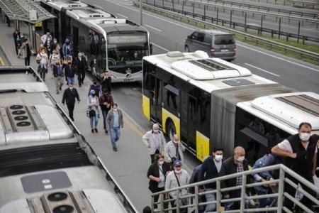
[[[179,141],[179,136],[175,134],[173,140],[169,141],[164,148],[166,153],[166,160],[169,163],[174,163],[174,160],[181,160],[184,162],[183,152],[185,151],[185,146]]]

